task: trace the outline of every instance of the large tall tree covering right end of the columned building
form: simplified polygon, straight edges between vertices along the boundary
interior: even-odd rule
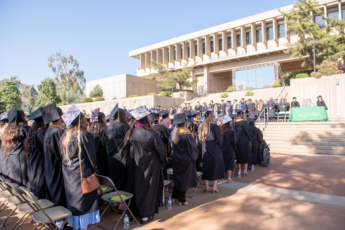
[[[280,11],[286,19],[286,32],[290,35],[298,36],[295,43],[287,43],[288,49],[284,53],[291,54],[291,57],[306,56],[302,67],[312,68],[314,63],[312,40],[315,43],[315,62],[321,63],[323,60],[337,61],[339,57],[345,57],[345,22],[342,20],[325,18],[326,27],[321,27],[313,21],[311,12],[318,14],[318,3],[315,0],[297,0],[293,9],[286,12]],[[330,33],[336,32],[336,33]]]

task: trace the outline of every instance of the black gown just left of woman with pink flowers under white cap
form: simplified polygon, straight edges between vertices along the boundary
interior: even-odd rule
[[[107,153],[109,173],[117,190],[125,191],[127,187],[125,136],[129,125],[112,122],[107,128]]]

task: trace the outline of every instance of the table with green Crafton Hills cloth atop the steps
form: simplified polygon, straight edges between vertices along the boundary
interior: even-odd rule
[[[291,108],[289,118],[292,122],[331,121],[329,120],[326,109],[323,106]]]

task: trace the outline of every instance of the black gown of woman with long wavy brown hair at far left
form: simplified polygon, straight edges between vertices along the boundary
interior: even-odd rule
[[[29,126],[19,124],[17,134],[18,143],[7,153],[9,163],[9,180],[19,186],[30,188],[28,166],[24,157],[24,140],[28,134]]]

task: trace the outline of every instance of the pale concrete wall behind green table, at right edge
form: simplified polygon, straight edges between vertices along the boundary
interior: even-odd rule
[[[290,86],[291,101],[292,97],[297,97],[297,101],[302,106],[302,99],[310,98],[316,105],[317,96],[321,95],[328,107],[327,114],[330,119],[345,118],[345,74],[323,76],[320,79],[314,77],[291,79]]]

